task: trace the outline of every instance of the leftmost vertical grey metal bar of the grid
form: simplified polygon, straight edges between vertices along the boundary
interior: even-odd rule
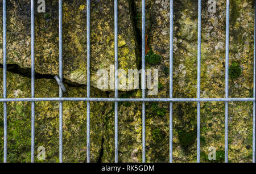
[[[6,99],[6,0],[3,0],[3,98]],[[7,103],[3,102],[3,162],[7,162]]]

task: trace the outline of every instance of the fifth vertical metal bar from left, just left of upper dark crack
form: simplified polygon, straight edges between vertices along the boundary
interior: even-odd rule
[[[115,28],[115,98],[118,98],[118,13],[117,0],[114,1]],[[115,101],[115,163],[118,163],[118,102]]]

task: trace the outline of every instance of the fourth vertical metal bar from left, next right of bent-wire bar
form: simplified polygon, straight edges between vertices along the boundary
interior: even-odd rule
[[[87,37],[87,97],[90,97],[90,0],[86,2],[86,37]],[[87,120],[87,163],[90,162],[90,101],[87,101],[86,107]]]

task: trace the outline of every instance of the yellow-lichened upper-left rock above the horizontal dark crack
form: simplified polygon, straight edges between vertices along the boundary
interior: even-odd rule
[[[91,85],[97,70],[114,65],[114,2],[91,3]],[[35,70],[59,74],[59,1],[46,1],[46,13],[35,5]],[[30,1],[7,2],[7,63],[31,67]],[[0,12],[2,19],[2,9]],[[118,1],[118,58],[120,69],[137,67],[138,50],[129,1]],[[2,31],[2,20],[0,22]],[[2,41],[2,32],[0,34]],[[86,84],[86,1],[63,1],[63,77]],[[2,46],[0,53],[2,54]],[[2,57],[1,57],[2,62]]]

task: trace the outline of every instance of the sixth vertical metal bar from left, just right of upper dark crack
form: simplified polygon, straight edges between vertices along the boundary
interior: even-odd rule
[[[142,98],[145,98],[146,74],[145,74],[145,0],[142,0]],[[146,113],[145,102],[142,102],[142,162],[146,162]]]

